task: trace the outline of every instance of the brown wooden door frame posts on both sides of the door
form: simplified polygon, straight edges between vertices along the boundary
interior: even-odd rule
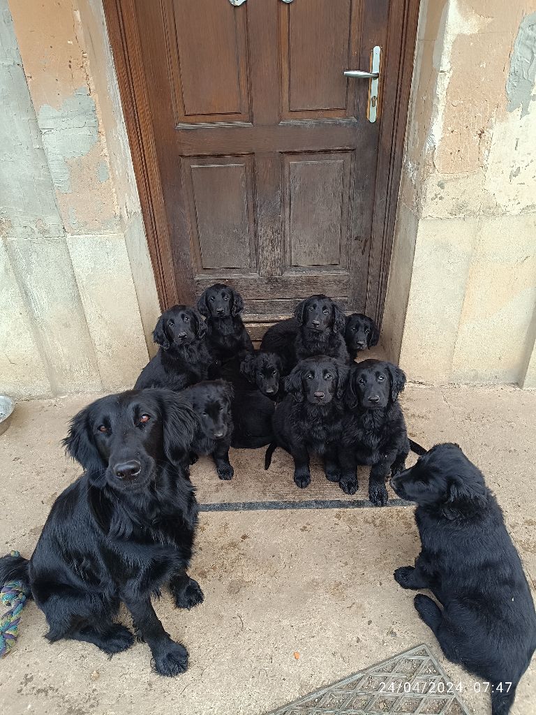
[[[223,1],[223,0],[222,0]],[[164,208],[154,134],[145,87],[133,0],[102,0],[116,69],[126,133],[142,207],[147,245],[160,307],[181,298],[181,267],[172,264],[172,245]],[[402,158],[410,105],[420,0],[392,0],[387,62],[382,74],[382,126],[379,133],[376,190],[372,213],[367,315],[381,325],[397,215]],[[374,246],[381,251],[374,253]],[[184,273],[183,283],[190,280]],[[179,284],[179,285],[177,285]]]

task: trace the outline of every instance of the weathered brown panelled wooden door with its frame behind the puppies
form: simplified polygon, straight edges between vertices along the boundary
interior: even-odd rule
[[[379,320],[417,4],[105,0],[162,307],[230,282],[259,328],[317,292]],[[371,123],[343,73],[375,45]]]

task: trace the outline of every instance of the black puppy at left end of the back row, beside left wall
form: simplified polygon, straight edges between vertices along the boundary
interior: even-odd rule
[[[184,390],[207,380],[212,355],[206,333],[205,322],[194,308],[174,305],[162,313],[153,332],[159,350],[142,370],[134,389]]]

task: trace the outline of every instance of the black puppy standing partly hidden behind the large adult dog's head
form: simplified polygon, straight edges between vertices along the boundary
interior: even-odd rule
[[[190,450],[190,463],[197,455],[212,455],[220,479],[232,479],[234,470],[229,463],[233,423],[231,402],[233,389],[224,380],[198,383],[181,393],[192,405],[199,426]]]

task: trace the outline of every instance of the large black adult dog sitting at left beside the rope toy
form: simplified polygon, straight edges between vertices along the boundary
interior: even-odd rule
[[[186,571],[197,501],[182,463],[195,428],[192,408],[169,390],[109,395],[72,420],[64,445],[84,475],[54,502],[30,561],[0,559],[1,583],[29,584],[49,641],[130,648],[133,634],[114,621],[123,601],[159,674],[187,669],[187,650],[164,631],[151,595],[169,586],[177,608],[203,601]]]

